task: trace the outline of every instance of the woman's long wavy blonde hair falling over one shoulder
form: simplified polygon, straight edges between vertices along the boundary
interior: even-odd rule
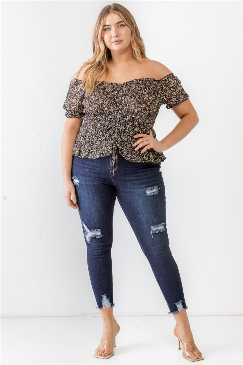
[[[111,5],[106,5],[99,13],[98,19],[95,23],[92,35],[92,45],[93,45],[93,56],[84,62],[81,68],[75,73],[75,78],[78,76],[81,69],[87,66],[83,80],[80,87],[84,84],[84,89],[86,90],[86,95],[92,93],[95,88],[95,82],[99,81],[99,77],[105,72],[108,74],[108,62],[111,59],[111,53],[109,48],[106,47],[105,42],[102,38],[102,29],[107,14],[116,13],[122,20],[131,28],[132,38],[131,46],[133,49],[134,56],[141,61],[141,58],[148,58],[145,55],[144,41],[141,38],[140,31],[138,30],[135,19],[132,14],[121,4],[112,3]],[[73,82],[72,80],[71,82]],[[102,81],[101,81],[102,82]],[[99,84],[99,82],[97,83]]]

